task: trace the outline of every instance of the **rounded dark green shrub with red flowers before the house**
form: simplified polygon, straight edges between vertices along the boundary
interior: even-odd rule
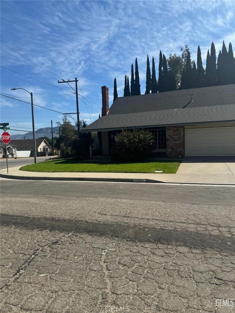
[[[149,131],[135,129],[115,136],[114,161],[140,161],[152,150],[154,137]]]

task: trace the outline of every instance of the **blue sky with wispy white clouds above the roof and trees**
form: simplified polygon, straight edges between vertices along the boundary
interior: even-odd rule
[[[22,100],[30,101],[23,90],[10,90],[13,87],[24,88],[33,92],[35,104],[63,113],[75,112],[75,95],[66,95],[72,90],[68,85],[67,89],[65,84],[58,84],[57,80],[73,80],[77,76],[81,90],[89,97],[85,97],[87,106],[79,100],[80,118],[90,123],[101,111],[102,85],[109,87],[110,105],[114,77],[117,78],[118,94],[123,96],[124,76],[130,76],[135,57],[138,59],[141,93],[144,93],[147,54],[150,58],[154,56],[157,70],[160,49],[168,58],[170,53],[180,54],[180,48],[188,44],[192,59],[196,60],[199,44],[205,65],[207,49],[212,41],[217,55],[223,39],[227,48],[230,41],[235,45],[235,2],[3,0],[1,36],[51,69],[3,38],[1,43],[8,47],[1,45],[2,49],[37,69],[3,50],[2,66],[65,89],[1,68],[2,92],[13,97],[26,97]],[[0,99],[1,122],[9,122],[14,126],[12,128],[21,127],[22,133],[30,131],[30,105],[9,98]],[[34,107],[34,115],[36,128],[49,126],[51,119],[55,126],[62,117],[59,113],[37,107]]]

